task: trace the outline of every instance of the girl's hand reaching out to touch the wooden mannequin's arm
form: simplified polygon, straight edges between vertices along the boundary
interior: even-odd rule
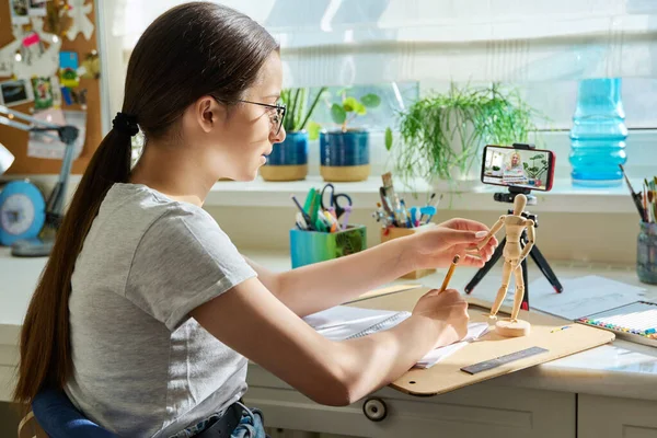
[[[459,265],[482,267],[497,246],[497,239],[492,237],[477,253],[476,245],[488,231],[488,227],[474,220],[450,219],[410,235],[408,255],[414,258],[416,269],[447,267],[457,254],[461,257]]]

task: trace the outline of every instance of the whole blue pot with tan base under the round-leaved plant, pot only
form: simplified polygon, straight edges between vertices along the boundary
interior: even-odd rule
[[[365,181],[370,174],[369,132],[320,132],[320,174],[324,181]]]

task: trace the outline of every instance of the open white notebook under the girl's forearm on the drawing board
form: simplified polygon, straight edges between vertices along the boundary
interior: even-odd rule
[[[411,316],[411,312],[360,309],[336,306],[303,318],[318,333],[332,341],[354,339],[389,330]],[[436,348],[423,357],[416,368],[430,368],[488,332],[486,323],[470,323],[468,334],[458,343]]]

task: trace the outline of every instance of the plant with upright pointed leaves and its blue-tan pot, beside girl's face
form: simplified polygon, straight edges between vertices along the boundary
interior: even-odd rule
[[[310,122],[322,93],[326,88],[320,89],[318,94],[309,102],[309,90],[286,89],[280,93],[280,102],[286,105],[286,115],[283,127],[286,138],[281,143],[275,143],[267,163],[260,170],[265,181],[298,181],[308,175],[308,140],[315,140],[320,126]],[[308,111],[307,111],[308,108]],[[308,127],[308,130],[306,129]]]

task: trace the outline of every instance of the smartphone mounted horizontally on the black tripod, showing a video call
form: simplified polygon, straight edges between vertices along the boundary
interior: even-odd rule
[[[482,183],[548,192],[554,180],[554,152],[548,149],[484,147]]]

